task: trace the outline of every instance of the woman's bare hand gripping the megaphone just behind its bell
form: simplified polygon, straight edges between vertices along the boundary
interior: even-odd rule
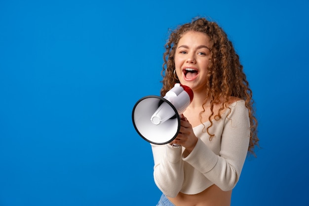
[[[178,144],[186,148],[191,153],[197,142],[197,137],[193,132],[192,125],[187,118],[182,115],[180,119],[180,130],[177,137],[170,144]]]

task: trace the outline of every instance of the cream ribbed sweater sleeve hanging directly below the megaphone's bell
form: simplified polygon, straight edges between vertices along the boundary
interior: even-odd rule
[[[154,155],[154,182],[167,197],[176,197],[184,181],[182,147],[170,144],[152,145]]]

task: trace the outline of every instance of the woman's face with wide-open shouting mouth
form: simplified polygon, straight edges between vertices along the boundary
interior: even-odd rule
[[[181,84],[194,92],[202,91],[206,83],[210,58],[210,39],[201,32],[189,31],[180,38],[175,52],[175,69]]]

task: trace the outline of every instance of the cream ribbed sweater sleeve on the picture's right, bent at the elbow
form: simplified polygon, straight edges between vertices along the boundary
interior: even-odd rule
[[[250,139],[250,121],[244,101],[234,102],[230,108],[221,137],[213,137],[221,138],[220,155],[212,152],[198,138],[193,151],[182,157],[223,191],[232,190],[236,185]]]

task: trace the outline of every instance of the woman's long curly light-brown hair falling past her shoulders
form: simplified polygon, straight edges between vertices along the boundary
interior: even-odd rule
[[[258,122],[255,117],[254,100],[252,99],[252,91],[249,88],[249,83],[243,72],[243,66],[240,64],[239,56],[236,54],[232,42],[229,41],[227,34],[215,22],[208,21],[205,18],[194,18],[191,23],[178,26],[175,30],[170,31],[169,39],[165,44],[165,52],[163,54],[164,63],[162,65],[161,81],[163,86],[160,91],[161,96],[165,96],[178,80],[174,77],[175,70],[175,50],[182,35],[188,31],[202,32],[210,37],[210,61],[208,66],[207,83],[204,86],[206,97],[210,98],[211,115],[207,127],[207,133],[210,135],[210,140],[214,134],[210,134],[209,128],[213,125],[211,118],[219,120],[222,111],[228,104],[231,96],[238,97],[245,101],[245,105],[249,111],[250,119],[250,143],[248,153],[255,157],[254,148],[259,146],[259,138],[257,136]],[[206,98],[204,104],[206,103]],[[219,113],[214,115],[214,104],[221,104]],[[201,114],[199,118],[201,121]]]

